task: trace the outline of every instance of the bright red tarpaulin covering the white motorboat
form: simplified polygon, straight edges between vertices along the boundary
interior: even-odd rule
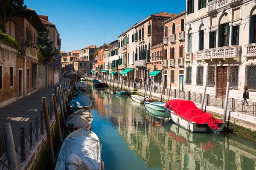
[[[175,99],[166,102],[165,107],[190,122],[207,123],[212,129],[218,129],[219,125],[217,123],[224,123],[215,119],[211,113],[204,113],[191,101]]]

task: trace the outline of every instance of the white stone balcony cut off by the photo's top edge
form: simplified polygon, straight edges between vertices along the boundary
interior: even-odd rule
[[[239,3],[240,1],[241,0],[212,0],[211,2],[207,3],[206,13],[210,14],[220,8]]]

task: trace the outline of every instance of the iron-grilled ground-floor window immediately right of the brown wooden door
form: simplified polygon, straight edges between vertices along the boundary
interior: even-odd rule
[[[228,82],[230,82],[230,89],[238,89],[239,65],[232,64],[228,66]]]

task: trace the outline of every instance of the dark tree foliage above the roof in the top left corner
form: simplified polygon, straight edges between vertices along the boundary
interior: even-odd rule
[[[0,0],[0,16],[3,18],[3,25],[0,26],[0,29],[2,28],[3,33],[6,33],[6,18],[18,14],[25,8],[24,0]]]

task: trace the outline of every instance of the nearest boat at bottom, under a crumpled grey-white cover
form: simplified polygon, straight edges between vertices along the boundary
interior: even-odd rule
[[[95,133],[86,128],[76,130],[64,139],[55,170],[104,170],[101,151],[102,144]]]

